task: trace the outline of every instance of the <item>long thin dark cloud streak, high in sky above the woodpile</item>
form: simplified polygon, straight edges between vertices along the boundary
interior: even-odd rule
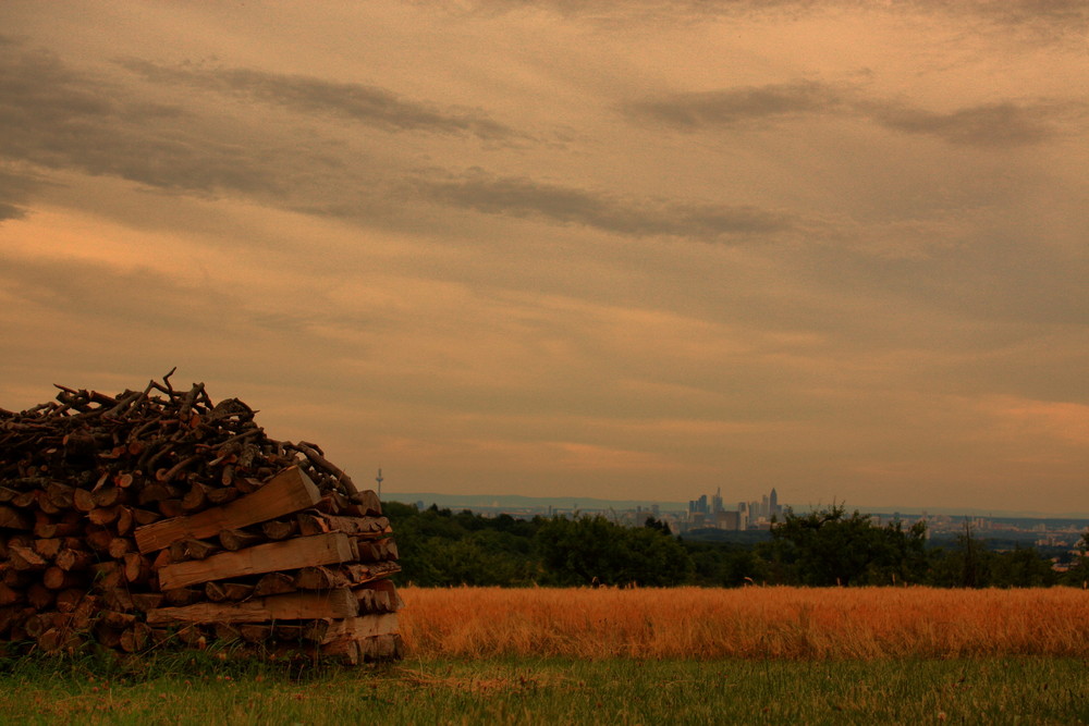
[[[479,110],[439,109],[378,86],[252,69],[168,66],[142,60],[121,64],[154,83],[216,90],[305,113],[327,113],[390,132],[469,135],[485,140],[521,136]]]

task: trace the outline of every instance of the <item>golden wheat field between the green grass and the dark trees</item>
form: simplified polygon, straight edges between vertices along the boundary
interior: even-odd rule
[[[1089,657],[1073,588],[405,588],[409,656]]]

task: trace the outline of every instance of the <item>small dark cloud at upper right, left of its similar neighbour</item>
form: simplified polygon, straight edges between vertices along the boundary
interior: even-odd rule
[[[837,109],[840,104],[839,94],[830,86],[799,81],[672,94],[631,101],[622,110],[633,119],[657,121],[666,126],[690,131],[708,126],[743,126],[757,122],[762,127],[771,120],[824,113]]]

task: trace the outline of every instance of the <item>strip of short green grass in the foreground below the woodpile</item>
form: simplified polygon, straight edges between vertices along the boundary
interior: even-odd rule
[[[1085,660],[414,661],[215,655],[0,665],[11,724],[1089,723]]]

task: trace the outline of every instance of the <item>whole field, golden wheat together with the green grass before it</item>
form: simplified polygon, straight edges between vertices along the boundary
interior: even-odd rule
[[[401,663],[292,667],[228,651],[22,659],[0,670],[0,719],[1089,723],[1080,590],[406,589],[404,598]],[[1032,642],[1033,633],[1050,635]],[[669,652],[677,639],[694,650]]]

